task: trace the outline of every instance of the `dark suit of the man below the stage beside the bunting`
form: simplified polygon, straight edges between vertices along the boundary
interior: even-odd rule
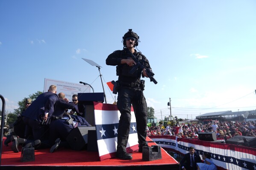
[[[201,163],[201,158],[197,153],[194,153],[194,164],[191,167],[191,155],[190,153],[186,153],[179,163],[180,167],[185,167],[186,170],[197,170],[197,163]]]

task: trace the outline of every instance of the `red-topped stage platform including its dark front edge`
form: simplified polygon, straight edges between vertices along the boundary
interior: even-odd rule
[[[147,140],[151,141],[150,138]],[[58,148],[54,153],[50,153],[50,149],[35,150],[35,161],[21,162],[21,147],[19,153],[13,153],[11,146],[12,142],[8,147],[3,144],[1,170],[179,170],[179,162],[162,148],[162,159],[154,161],[143,161],[142,153],[138,151],[130,153],[132,160],[110,158],[100,161],[98,152]]]

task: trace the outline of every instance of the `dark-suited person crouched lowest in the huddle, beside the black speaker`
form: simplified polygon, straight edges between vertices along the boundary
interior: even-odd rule
[[[50,124],[50,153],[58,147],[70,147],[66,138],[72,129],[79,126],[91,126],[85,118],[78,115],[66,115],[61,119],[56,119]]]

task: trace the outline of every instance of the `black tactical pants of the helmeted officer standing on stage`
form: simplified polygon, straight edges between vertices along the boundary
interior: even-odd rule
[[[141,89],[121,87],[117,107],[121,113],[118,125],[117,153],[126,152],[131,124],[131,104],[134,109],[139,147],[147,144],[147,103]]]

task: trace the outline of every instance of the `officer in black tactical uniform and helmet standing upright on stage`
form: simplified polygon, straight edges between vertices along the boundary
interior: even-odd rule
[[[142,152],[142,147],[148,146],[146,141],[147,103],[143,95],[144,81],[140,79],[141,75],[143,77],[148,76],[145,69],[136,67],[136,62],[132,58],[135,57],[138,61],[142,61],[146,68],[151,68],[147,58],[134,49],[135,46],[138,46],[138,42],[140,42],[139,36],[132,32],[132,29],[129,29],[123,37],[124,49],[113,52],[106,59],[107,65],[117,66],[118,81],[115,83],[113,92],[118,92],[117,107],[121,116],[118,125],[116,156],[125,160],[132,159],[132,156],[126,152],[131,123],[131,104],[134,108],[137,123],[138,151]],[[133,71],[131,72],[131,70]]]

